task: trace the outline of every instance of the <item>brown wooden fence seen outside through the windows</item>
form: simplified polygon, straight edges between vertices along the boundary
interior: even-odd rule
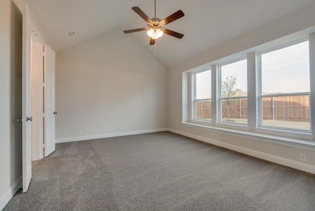
[[[222,101],[222,118],[248,117],[247,99]],[[211,101],[196,102],[197,118],[211,119]],[[310,122],[310,96],[277,96],[262,98],[262,118],[292,122]]]

